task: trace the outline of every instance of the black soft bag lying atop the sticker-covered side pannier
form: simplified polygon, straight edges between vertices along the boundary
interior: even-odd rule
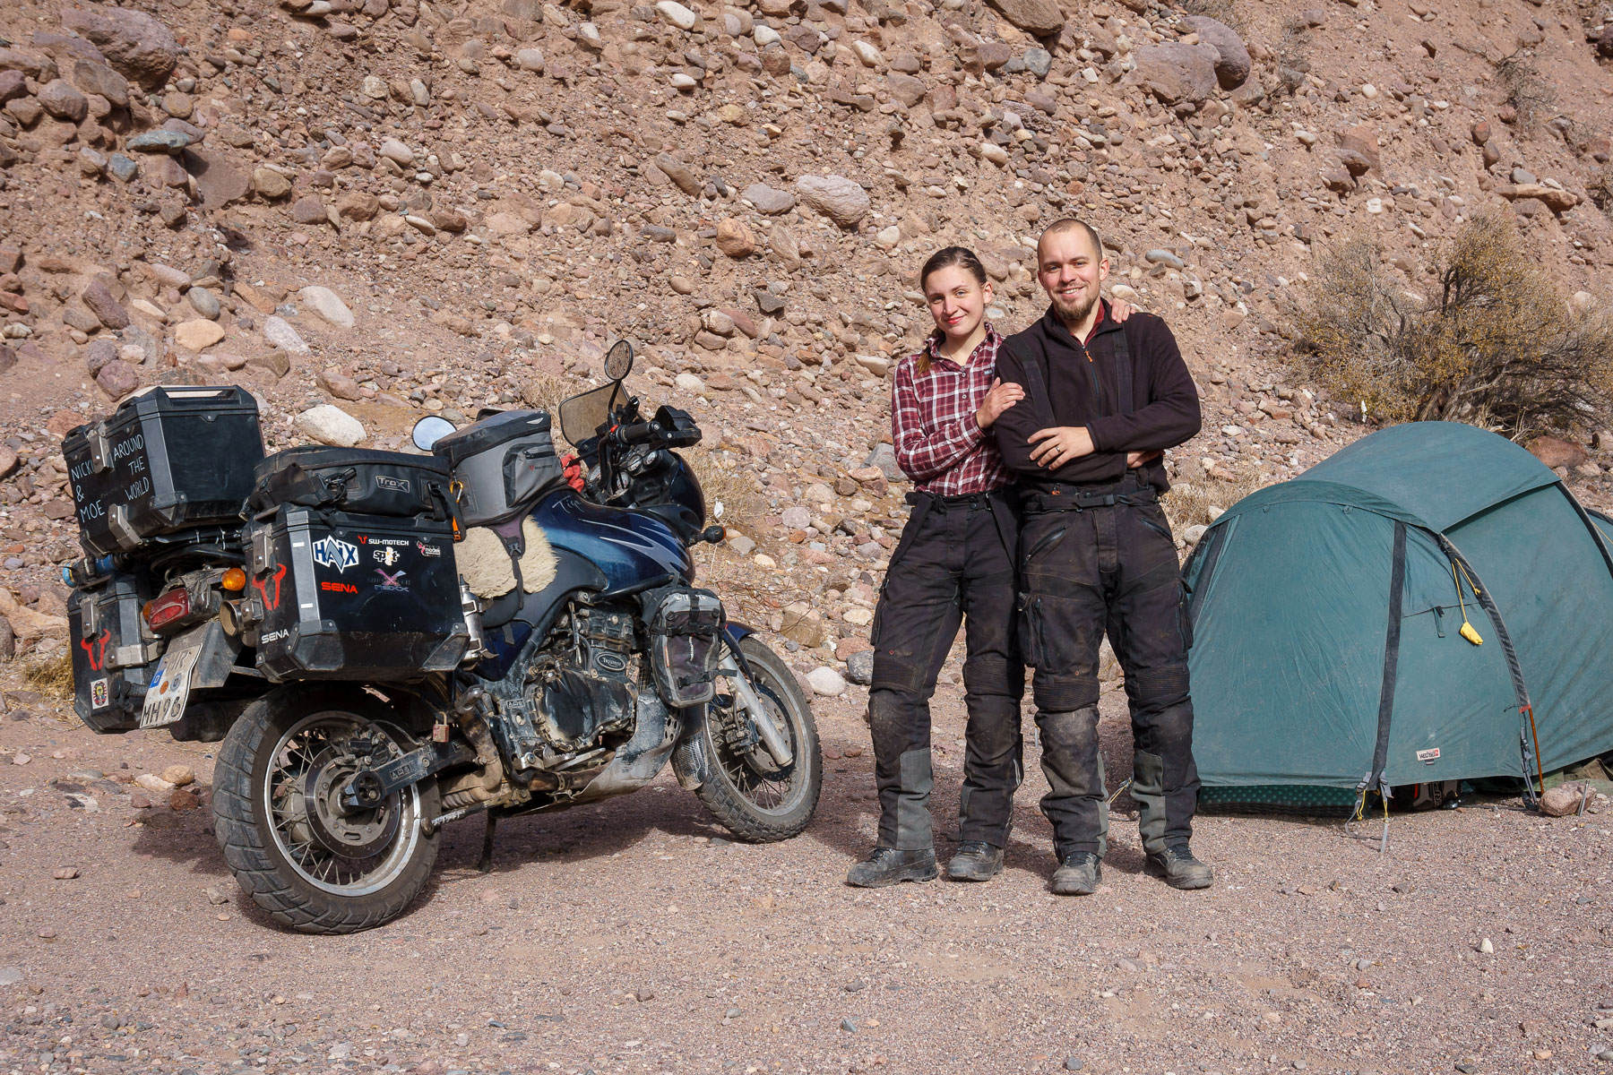
[[[276,504],[381,516],[448,509],[448,467],[432,456],[310,445],[268,456],[252,472],[247,501],[256,514]]]

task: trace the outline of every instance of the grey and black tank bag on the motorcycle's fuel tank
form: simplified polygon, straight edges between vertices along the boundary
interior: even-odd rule
[[[455,430],[431,448],[453,469],[465,524],[503,522],[565,480],[548,411],[502,411]]]

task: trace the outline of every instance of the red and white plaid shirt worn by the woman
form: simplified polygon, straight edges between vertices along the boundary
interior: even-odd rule
[[[937,496],[984,493],[1011,479],[990,434],[974,422],[974,413],[997,377],[997,348],[1003,337],[990,324],[986,338],[958,366],[940,355],[939,334],[924,343],[929,371],[918,372],[918,355],[897,363],[890,387],[890,440],[897,466],[919,492]]]

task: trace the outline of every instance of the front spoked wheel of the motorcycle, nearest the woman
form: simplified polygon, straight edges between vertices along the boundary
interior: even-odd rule
[[[777,764],[737,704],[734,685],[719,677],[700,730],[713,772],[695,795],[740,840],[789,840],[806,828],[818,809],[823,790],[818,725],[789,666],[760,638],[748,637],[739,645],[753,675],[750,685],[784,728],[792,759]]]

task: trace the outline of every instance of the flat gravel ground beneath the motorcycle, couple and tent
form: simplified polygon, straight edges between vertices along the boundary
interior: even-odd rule
[[[1103,890],[1060,899],[1032,764],[995,882],[858,891],[876,804],[853,688],[819,699],[827,780],[794,841],[729,843],[668,775],[503,824],[486,875],[481,825],[452,828],[403,919],[310,938],[227,874],[213,748],[5,701],[0,1070],[1613,1073],[1607,807],[1397,816],[1387,854],[1336,820],[1203,817],[1207,893],[1142,875],[1118,814]],[[939,701],[939,833],[961,735]],[[1124,775],[1118,693],[1105,753]],[[176,762],[202,809],[118,783]]]

